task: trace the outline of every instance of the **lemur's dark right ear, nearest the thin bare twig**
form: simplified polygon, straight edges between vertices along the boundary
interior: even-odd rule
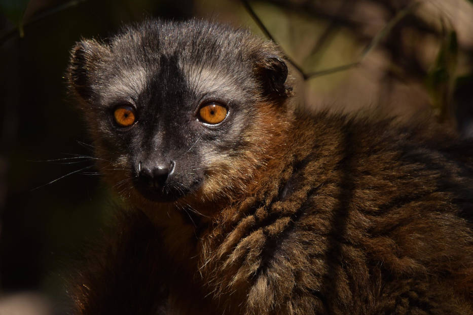
[[[290,94],[290,87],[285,85],[287,78],[287,65],[276,55],[265,55],[256,64],[256,73],[262,80],[264,96],[277,100]]]

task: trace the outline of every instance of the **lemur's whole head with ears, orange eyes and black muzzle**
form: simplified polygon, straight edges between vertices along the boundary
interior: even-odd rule
[[[83,40],[67,77],[108,182],[152,201],[244,189],[290,121],[277,47],[200,20]]]

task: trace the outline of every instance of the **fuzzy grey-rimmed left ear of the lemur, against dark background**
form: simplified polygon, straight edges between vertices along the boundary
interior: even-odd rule
[[[98,70],[103,59],[109,55],[108,47],[95,40],[82,40],[72,48],[67,78],[70,88],[84,100],[92,96],[94,82],[91,75]]]

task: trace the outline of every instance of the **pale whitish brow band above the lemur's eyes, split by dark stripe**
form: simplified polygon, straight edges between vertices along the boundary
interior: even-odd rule
[[[136,56],[133,56],[136,54]],[[242,99],[251,91],[251,69],[242,63],[217,62],[204,56],[188,58],[179,50],[170,54],[156,52],[139,55],[138,48],[129,54],[118,54],[112,73],[106,82],[107,89],[119,99],[137,99],[142,93],[164,93],[179,86],[182,92],[200,97]],[[243,79],[244,78],[244,79]],[[176,86],[171,87],[170,85]]]

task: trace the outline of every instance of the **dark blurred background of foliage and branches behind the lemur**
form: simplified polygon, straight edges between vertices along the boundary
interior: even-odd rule
[[[473,136],[472,1],[248,4],[302,70],[293,69],[301,106],[429,112]],[[62,275],[116,198],[95,169],[81,171],[93,161],[79,157],[93,152],[66,93],[69,50],[81,37],[105,38],[149,16],[212,18],[266,36],[237,0],[0,0],[2,315],[65,312]],[[78,159],[61,160],[71,157]]]

